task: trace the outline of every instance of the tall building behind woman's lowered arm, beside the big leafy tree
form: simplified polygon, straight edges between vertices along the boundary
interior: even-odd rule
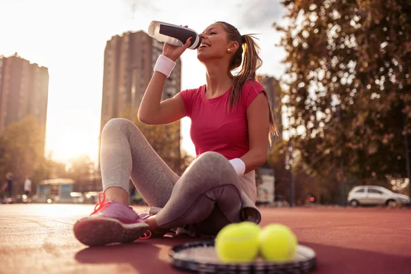
[[[281,102],[281,87],[279,81],[274,77],[261,75],[258,79],[269,95],[271,107],[274,111],[274,120],[279,133],[282,135],[282,102]]]

